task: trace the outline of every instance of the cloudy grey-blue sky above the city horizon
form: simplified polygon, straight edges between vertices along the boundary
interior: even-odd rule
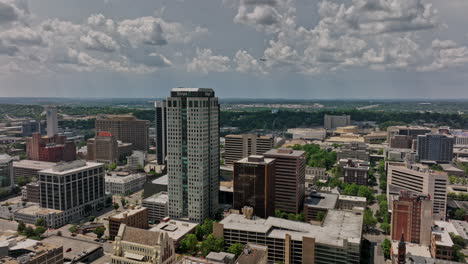
[[[0,96],[468,98],[468,0],[0,0]]]

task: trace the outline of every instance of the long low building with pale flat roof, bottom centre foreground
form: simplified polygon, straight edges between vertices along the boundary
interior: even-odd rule
[[[268,247],[268,260],[291,264],[359,263],[362,214],[329,210],[322,225],[275,217],[230,214],[213,224],[213,235],[234,243]]]

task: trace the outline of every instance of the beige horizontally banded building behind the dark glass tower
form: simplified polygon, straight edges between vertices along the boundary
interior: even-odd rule
[[[227,135],[224,138],[224,162],[229,165],[250,155],[263,155],[274,146],[273,137],[255,134]]]

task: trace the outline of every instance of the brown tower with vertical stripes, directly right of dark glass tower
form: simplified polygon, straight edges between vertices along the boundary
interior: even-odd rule
[[[263,155],[275,159],[275,209],[298,214],[305,196],[305,152],[272,149]]]

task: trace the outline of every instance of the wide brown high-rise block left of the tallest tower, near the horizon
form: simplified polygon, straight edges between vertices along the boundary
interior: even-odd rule
[[[133,116],[103,116],[96,119],[96,132],[110,132],[117,140],[132,143],[133,150],[148,150],[148,121]]]

